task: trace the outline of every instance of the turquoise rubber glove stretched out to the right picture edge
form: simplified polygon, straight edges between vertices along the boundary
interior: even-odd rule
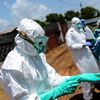
[[[70,80],[79,82],[100,83],[100,73],[84,73],[76,76],[71,76]]]

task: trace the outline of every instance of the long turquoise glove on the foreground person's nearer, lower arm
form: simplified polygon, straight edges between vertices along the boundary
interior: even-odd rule
[[[75,91],[78,85],[79,85],[79,82],[76,81],[75,79],[72,81],[65,80],[59,86],[51,89],[50,91],[46,93],[41,94],[40,100],[55,100],[56,98],[60,96],[71,94]]]

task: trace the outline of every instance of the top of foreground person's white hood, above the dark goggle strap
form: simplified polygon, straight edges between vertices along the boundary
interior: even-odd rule
[[[34,40],[38,35],[45,35],[45,31],[37,22],[27,18],[20,21],[17,31],[26,33],[31,40]]]

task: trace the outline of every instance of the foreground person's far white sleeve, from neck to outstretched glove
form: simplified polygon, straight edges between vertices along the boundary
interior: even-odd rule
[[[59,85],[65,79],[68,79],[68,80],[70,79],[70,76],[61,76],[58,73],[56,73],[56,70],[47,63],[46,56],[44,53],[41,53],[40,57],[42,59],[43,64],[47,68],[49,81],[52,87]]]

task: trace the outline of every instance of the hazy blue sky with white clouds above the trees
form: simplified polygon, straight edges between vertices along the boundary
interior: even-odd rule
[[[0,0],[0,32],[16,27],[22,18],[44,20],[48,13],[62,13],[93,6],[100,10],[100,0]]]

